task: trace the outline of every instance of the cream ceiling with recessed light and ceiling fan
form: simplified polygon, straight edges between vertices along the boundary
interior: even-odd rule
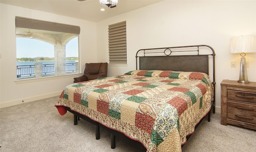
[[[0,0],[0,3],[99,22],[160,1],[162,0],[118,0],[115,8],[102,6],[99,0]],[[101,8],[105,11],[101,11]]]

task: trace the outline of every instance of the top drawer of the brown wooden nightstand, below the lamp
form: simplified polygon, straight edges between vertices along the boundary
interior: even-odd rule
[[[243,92],[243,91],[234,91],[227,90],[228,100],[244,101],[256,104],[256,93],[253,92]]]

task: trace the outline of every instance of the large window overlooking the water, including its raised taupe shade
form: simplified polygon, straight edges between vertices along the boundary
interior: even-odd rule
[[[17,80],[78,73],[78,26],[16,17]]]

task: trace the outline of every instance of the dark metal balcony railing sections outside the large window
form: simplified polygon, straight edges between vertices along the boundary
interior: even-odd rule
[[[54,64],[42,64],[42,75],[54,72]],[[66,72],[76,72],[76,63],[66,63]],[[17,66],[17,78],[26,76],[35,76],[35,65]]]

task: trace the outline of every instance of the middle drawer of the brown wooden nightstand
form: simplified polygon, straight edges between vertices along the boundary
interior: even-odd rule
[[[227,108],[230,111],[244,112],[244,113],[256,115],[256,105],[233,102],[233,101],[228,101],[227,103],[228,103]]]

